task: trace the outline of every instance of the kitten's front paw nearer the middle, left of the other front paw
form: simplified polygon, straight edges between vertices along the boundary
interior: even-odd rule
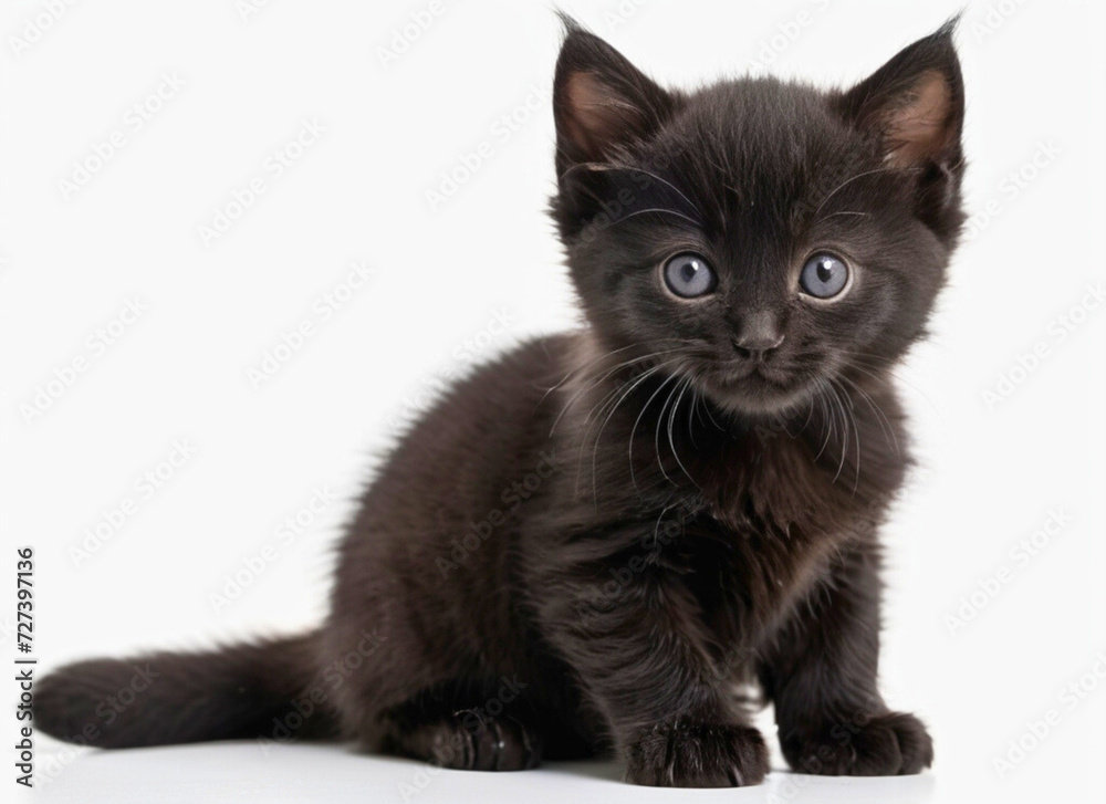
[[[661,724],[629,746],[626,780],[656,787],[744,787],[768,773],[768,746],[748,725]]]

